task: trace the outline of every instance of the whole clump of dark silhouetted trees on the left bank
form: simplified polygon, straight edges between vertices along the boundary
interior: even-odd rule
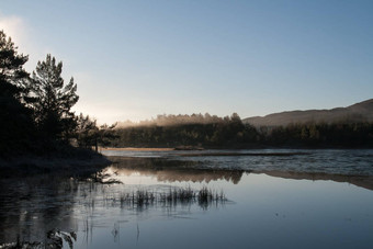
[[[94,155],[69,143],[76,137],[82,147],[97,147],[104,131],[100,132],[88,116],[79,118],[71,112],[79,97],[72,78],[64,83],[63,64],[47,55],[31,78],[23,68],[26,61],[27,56],[19,54],[11,38],[0,31],[1,160]]]

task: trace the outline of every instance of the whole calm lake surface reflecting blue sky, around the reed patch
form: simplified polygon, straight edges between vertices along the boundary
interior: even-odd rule
[[[2,179],[0,244],[44,241],[58,228],[77,233],[75,248],[372,248],[373,150],[303,152],[105,151],[115,163],[101,176],[122,184]],[[137,190],[158,195],[202,186],[227,201],[121,202]]]

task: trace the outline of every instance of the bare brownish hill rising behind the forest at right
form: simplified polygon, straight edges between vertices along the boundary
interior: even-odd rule
[[[273,113],[267,116],[244,118],[245,124],[253,126],[285,126],[291,123],[335,123],[335,122],[373,122],[373,99],[347,107],[331,110],[307,110]]]

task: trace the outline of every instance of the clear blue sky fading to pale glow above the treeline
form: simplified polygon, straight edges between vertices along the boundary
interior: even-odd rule
[[[99,123],[373,98],[373,1],[0,0],[25,68],[52,54]]]

